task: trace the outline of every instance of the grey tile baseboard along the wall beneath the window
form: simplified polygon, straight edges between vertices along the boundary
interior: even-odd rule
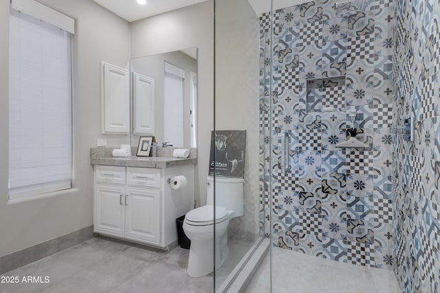
[[[0,257],[0,274],[15,270],[22,266],[43,259],[61,250],[87,241],[94,237],[94,227],[89,226],[81,230],[57,237],[29,248],[19,250],[10,255]]]

